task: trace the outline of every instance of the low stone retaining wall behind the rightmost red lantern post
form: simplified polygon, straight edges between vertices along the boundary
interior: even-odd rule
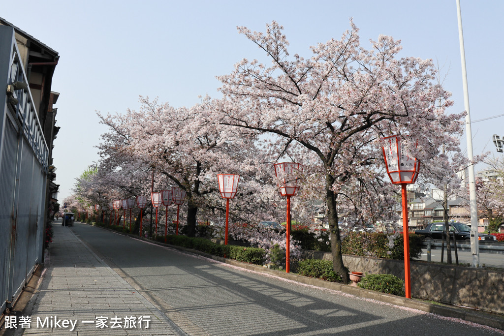
[[[303,251],[304,258],[332,260],[331,253]],[[350,271],[404,279],[404,261],[343,255]],[[411,295],[504,314],[504,270],[411,261]]]

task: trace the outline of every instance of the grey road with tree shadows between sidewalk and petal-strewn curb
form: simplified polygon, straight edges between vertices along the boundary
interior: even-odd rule
[[[190,335],[497,333],[458,320],[243,271],[80,223],[67,229]]]

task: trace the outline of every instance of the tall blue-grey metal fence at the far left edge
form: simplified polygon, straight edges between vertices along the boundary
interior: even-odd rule
[[[0,87],[28,83],[11,27],[0,26]],[[13,99],[14,98],[14,99]],[[42,253],[48,148],[29,87],[0,92],[0,313]]]

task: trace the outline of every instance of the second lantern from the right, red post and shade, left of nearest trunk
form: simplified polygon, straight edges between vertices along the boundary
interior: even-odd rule
[[[278,186],[280,194],[287,197],[287,242],[285,246],[285,272],[290,272],[290,197],[296,195],[299,189],[297,172],[301,169],[300,163],[283,162],[275,164],[275,176],[280,179]]]

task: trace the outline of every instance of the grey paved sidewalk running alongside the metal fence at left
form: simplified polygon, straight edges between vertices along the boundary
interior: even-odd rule
[[[38,288],[5,335],[185,335],[68,227],[53,231]]]

